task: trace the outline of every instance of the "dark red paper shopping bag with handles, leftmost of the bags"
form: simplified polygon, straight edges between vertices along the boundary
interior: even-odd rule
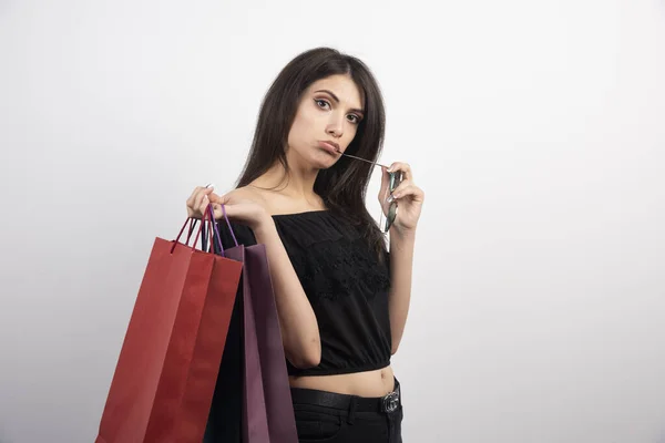
[[[186,225],[155,239],[96,443],[203,440],[243,264],[180,243]]]

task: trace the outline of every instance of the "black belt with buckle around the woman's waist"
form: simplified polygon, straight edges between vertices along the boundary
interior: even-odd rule
[[[385,396],[367,398],[357,395],[338,394],[336,392],[317,391],[313,389],[291,388],[291,400],[296,404],[316,404],[357,412],[393,412],[401,405],[399,382],[395,380],[395,390]],[[354,406],[351,406],[354,404]]]

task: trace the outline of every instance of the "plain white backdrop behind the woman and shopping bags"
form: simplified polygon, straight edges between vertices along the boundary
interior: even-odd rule
[[[0,0],[0,442],[94,440],[154,237],[318,45],[427,193],[405,442],[665,441],[662,0]]]

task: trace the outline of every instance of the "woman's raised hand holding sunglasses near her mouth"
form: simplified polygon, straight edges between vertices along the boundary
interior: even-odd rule
[[[400,234],[416,230],[422,203],[424,202],[424,192],[413,183],[413,174],[411,166],[407,163],[396,162],[390,165],[389,169],[381,168],[383,175],[381,177],[381,190],[379,192],[379,202],[383,208],[383,214],[387,213],[390,203],[386,200],[388,185],[390,183],[388,171],[401,172],[402,181],[399,186],[392,192],[392,198],[397,200],[397,217],[392,223],[392,227]]]

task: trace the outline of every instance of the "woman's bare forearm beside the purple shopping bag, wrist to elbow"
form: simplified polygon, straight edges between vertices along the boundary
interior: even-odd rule
[[[254,234],[266,246],[286,357],[298,368],[315,367],[321,354],[318,323],[273,219]]]

